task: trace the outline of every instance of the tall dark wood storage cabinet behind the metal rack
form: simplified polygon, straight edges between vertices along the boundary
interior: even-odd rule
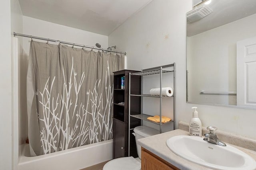
[[[129,81],[131,81],[132,94],[141,94],[141,77],[131,76],[129,72],[135,70],[120,70],[114,72],[114,112],[113,112],[113,159],[128,156],[128,133],[130,133],[130,156],[138,157],[133,130],[129,132]],[[124,76],[124,89],[121,89],[121,77]],[[139,114],[141,109],[141,97],[132,96],[131,114]],[[124,105],[119,104],[124,102]],[[140,126],[140,119],[131,117],[131,128]]]

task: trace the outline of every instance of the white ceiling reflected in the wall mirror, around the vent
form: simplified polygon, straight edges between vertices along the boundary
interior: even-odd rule
[[[201,20],[187,23],[188,37],[256,14],[256,0],[212,0],[206,6],[213,12]]]

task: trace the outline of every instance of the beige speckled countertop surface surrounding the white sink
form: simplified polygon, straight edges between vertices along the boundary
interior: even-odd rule
[[[161,133],[158,135],[142,138],[142,139],[139,139],[137,142],[143,148],[149,150],[153,154],[159,156],[160,158],[166,160],[167,162],[169,162],[170,164],[176,166],[181,170],[211,170],[210,168],[200,166],[199,164],[190,162],[189,160],[186,160],[176,155],[166,146],[166,140],[169,139],[170,137],[174,137],[177,135],[189,135],[189,133],[188,131],[176,129],[174,131],[169,131],[166,133]],[[227,145],[231,145],[228,142],[225,142],[225,143]],[[236,145],[231,145],[231,146],[242,150],[243,152],[252,156],[254,160],[256,160],[256,151],[238,147]]]

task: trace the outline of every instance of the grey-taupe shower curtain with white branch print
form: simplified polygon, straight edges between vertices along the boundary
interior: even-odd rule
[[[27,74],[30,154],[112,138],[113,73],[124,57],[32,41]]]

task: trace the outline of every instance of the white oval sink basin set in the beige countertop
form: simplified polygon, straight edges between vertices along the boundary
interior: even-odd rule
[[[202,166],[219,170],[255,170],[256,162],[248,154],[230,145],[222,147],[202,137],[180,135],[166,141],[178,156]]]

